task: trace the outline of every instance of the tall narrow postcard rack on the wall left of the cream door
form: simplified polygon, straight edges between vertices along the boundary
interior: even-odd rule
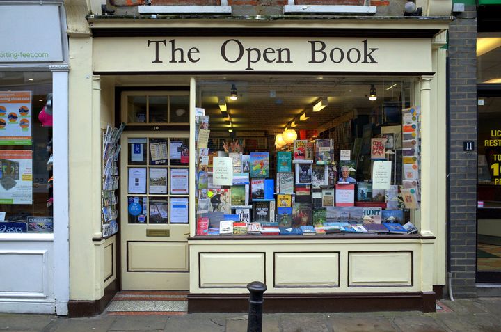
[[[120,128],[108,125],[103,135],[103,166],[102,166],[102,198],[101,198],[101,220],[102,236],[109,237],[118,232],[116,221],[118,203],[116,189],[118,189],[118,156],[120,155],[120,136],[122,135],[125,123]]]

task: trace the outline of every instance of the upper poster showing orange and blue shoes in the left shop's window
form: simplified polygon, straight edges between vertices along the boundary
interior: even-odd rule
[[[31,113],[31,91],[0,92],[0,145],[31,145]]]

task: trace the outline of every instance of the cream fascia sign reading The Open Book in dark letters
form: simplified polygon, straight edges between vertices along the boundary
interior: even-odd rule
[[[426,38],[95,38],[95,72],[431,72]]]

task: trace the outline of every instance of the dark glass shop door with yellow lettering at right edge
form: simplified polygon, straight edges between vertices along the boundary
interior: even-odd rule
[[[501,283],[501,90],[479,90],[477,283]]]

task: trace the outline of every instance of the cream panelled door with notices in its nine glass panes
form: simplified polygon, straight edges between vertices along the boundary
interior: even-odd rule
[[[188,143],[189,132],[122,134],[123,290],[189,289]]]

